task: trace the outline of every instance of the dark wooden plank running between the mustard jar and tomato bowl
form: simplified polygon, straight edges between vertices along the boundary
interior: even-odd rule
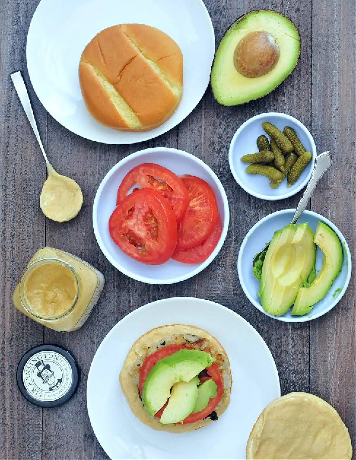
[[[92,204],[105,174],[129,153],[155,145],[176,146],[177,133],[173,130],[154,142],[109,146],[80,138],[49,116],[50,161],[58,172],[80,184],[84,204],[78,217],[69,223],[47,219],[46,245],[73,253],[96,266],[103,272],[106,285],[97,307],[80,330],[60,334],[45,329],[45,343],[62,345],[73,352],[80,365],[81,381],[70,403],[43,414],[44,460],[61,458],[64,451],[68,458],[106,458],[86,411],[86,379],[92,358],[105,335],[122,317],[152,300],[175,295],[174,286],[150,287],[116,270],[101,253],[92,230]]]

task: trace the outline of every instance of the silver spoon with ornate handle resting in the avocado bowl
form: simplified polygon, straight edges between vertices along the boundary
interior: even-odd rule
[[[293,219],[291,220],[291,224],[295,224],[297,222],[301,213],[303,213],[304,209],[306,208],[308,201],[316,188],[316,184],[319,182],[319,179],[322,178],[325,171],[329,169],[331,164],[332,164],[332,159],[331,159],[331,155],[329,151],[323,152],[320,155],[317,155],[310,181],[308,182],[306,189],[304,190],[304,194],[298,203]],[[269,246],[270,246],[270,243],[267,243],[265,247],[262,249],[262,251],[257,253],[255,257],[253,258],[252,266],[253,266],[254,274],[255,274],[255,270],[258,270],[258,266],[256,265],[256,263],[260,260],[261,261],[260,265],[262,266],[262,263],[264,261],[264,256],[266,255],[266,252]]]

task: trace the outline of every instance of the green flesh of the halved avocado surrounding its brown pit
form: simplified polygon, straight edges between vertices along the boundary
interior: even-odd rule
[[[247,34],[261,31],[272,35],[279,47],[279,59],[265,75],[246,77],[235,68],[235,48]],[[226,31],[215,53],[211,72],[214,98],[219,104],[238,105],[265,96],[293,71],[299,53],[298,29],[287,17],[270,10],[245,14]]]

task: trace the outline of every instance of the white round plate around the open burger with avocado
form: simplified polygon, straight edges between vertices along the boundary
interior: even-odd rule
[[[177,323],[214,335],[227,352],[233,379],[229,407],[219,420],[179,434],[140,422],[119,383],[132,344],[152,328]],[[253,424],[280,394],[273,357],[247,321],[214,302],[178,297],[145,305],[111,329],[92,361],[86,403],[94,433],[111,459],[244,459]]]

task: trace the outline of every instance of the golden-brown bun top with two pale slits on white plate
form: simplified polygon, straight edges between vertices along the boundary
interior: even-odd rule
[[[85,47],[79,63],[87,109],[103,125],[120,131],[160,126],[183,94],[183,55],[155,27],[119,24],[103,29]]]

